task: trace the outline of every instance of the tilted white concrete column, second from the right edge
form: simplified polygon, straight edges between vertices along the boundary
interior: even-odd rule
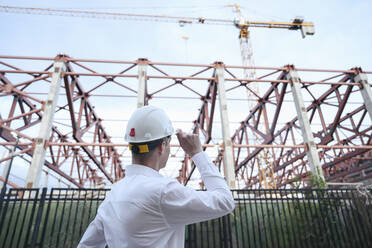
[[[307,116],[307,111],[301,93],[300,79],[297,75],[297,72],[294,70],[289,71],[287,74],[287,79],[290,80],[291,83],[293,100],[296,106],[298,121],[300,122],[301,126],[302,137],[306,147],[311,173],[320,177],[324,181],[323,170],[320,166],[319,155],[316,150],[317,148],[314,142],[314,136],[311,131],[310,121]]]

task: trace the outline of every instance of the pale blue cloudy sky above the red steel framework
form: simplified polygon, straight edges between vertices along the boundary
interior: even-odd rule
[[[371,1],[0,1],[0,5],[137,14],[234,19],[227,4],[237,3],[247,20],[290,21],[301,16],[315,24],[315,35],[299,31],[252,28],[257,66],[371,71]],[[234,26],[102,20],[0,13],[0,54],[240,65]],[[187,37],[187,39],[185,39]],[[197,105],[200,105],[197,103]],[[243,114],[246,115],[245,113]],[[190,116],[195,116],[193,111]],[[188,118],[188,116],[186,115]],[[235,119],[234,119],[235,117]],[[194,117],[195,118],[195,117]],[[232,121],[242,120],[231,116]]]

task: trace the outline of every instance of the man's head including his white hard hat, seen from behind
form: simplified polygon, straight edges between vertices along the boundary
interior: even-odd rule
[[[125,132],[133,161],[143,165],[155,161],[159,169],[163,168],[168,160],[173,132],[172,123],[162,109],[153,106],[137,109]]]

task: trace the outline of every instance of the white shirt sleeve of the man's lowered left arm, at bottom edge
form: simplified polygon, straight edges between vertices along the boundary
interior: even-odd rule
[[[97,215],[89,224],[77,248],[98,248],[105,246],[106,241],[103,232],[103,225]]]

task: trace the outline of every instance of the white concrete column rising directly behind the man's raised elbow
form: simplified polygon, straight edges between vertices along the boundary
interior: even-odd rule
[[[223,64],[217,64],[217,88],[218,100],[220,103],[221,125],[222,125],[222,138],[224,143],[223,151],[223,165],[225,170],[225,177],[227,184],[231,189],[235,188],[235,166],[233,159],[233,147],[230,136],[229,117],[227,113],[226,91],[225,91],[225,67]]]

